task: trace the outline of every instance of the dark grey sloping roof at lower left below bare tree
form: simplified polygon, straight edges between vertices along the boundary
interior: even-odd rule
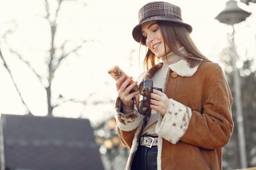
[[[10,170],[103,170],[88,119],[1,115]]]

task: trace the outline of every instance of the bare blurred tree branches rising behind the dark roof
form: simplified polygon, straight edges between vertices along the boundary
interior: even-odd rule
[[[4,43],[6,46],[8,46],[9,51],[13,54],[15,54],[22,62],[24,62],[27,67],[34,73],[34,75],[36,75],[36,77],[38,78],[39,82],[41,83],[41,85],[45,88],[46,94],[47,94],[47,106],[48,106],[48,116],[52,116],[52,112],[54,110],[54,108],[60,106],[61,104],[65,103],[65,102],[78,102],[81,104],[87,104],[87,99],[84,99],[83,101],[78,100],[78,99],[66,99],[65,96],[63,96],[63,94],[59,94],[57,101],[61,101],[58,102],[57,104],[53,104],[52,102],[52,80],[54,79],[54,73],[56,72],[56,70],[61,66],[61,63],[70,56],[70,54],[74,54],[78,52],[79,49],[81,49],[81,47],[85,44],[85,42],[88,42],[88,40],[82,40],[81,44],[74,46],[72,49],[66,48],[67,43],[69,43],[68,40],[64,39],[64,42],[62,43],[62,45],[60,47],[56,46],[56,32],[58,31],[58,26],[60,24],[60,18],[59,18],[59,12],[61,11],[61,6],[63,4],[64,1],[67,1],[67,3],[69,3],[69,0],[56,0],[56,1],[49,1],[49,0],[44,0],[45,3],[45,16],[43,17],[47,22],[47,24],[49,25],[49,30],[50,30],[50,49],[47,53],[48,56],[45,57],[45,63],[47,64],[47,77],[43,77],[40,74],[38,74],[36,72],[36,69],[34,69],[34,67],[31,65],[31,61],[27,61],[25,60],[25,57],[21,55],[21,53],[19,53],[17,50],[15,50],[10,44],[8,44],[7,42],[7,38],[9,35],[11,35],[11,33],[15,32],[14,30],[8,30],[6,31],[6,33],[4,33],[2,35],[2,39],[4,40]],[[87,3],[82,2],[80,0],[73,0],[78,2],[80,5],[82,6],[86,6]],[[54,4],[57,2],[57,6],[55,7],[54,5],[51,6],[51,4]],[[53,10],[55,9],[55,10]],[[46,30],[47,31],[47,30]],[[93,40],[90,40],[93,41]],[[3,44],[3,43],[2,43]],[[46,44],[47,45],[47,44]],[[67,50],[69,49],[69,50]],[[77,54],[78,55],[78,54]],[[27,114],[31,114],[31,111],[29,110],[29,107],[27,106],[26,102],[24,102],[24,99],[20,93],[20,90],[15,82],[15,79],[13,79],[12,73],[10,68],[8,67],[8,64],[6,62],[6,60],[4,60],[4,54],[2,55],[2,53],[0,53],[0,57],[1,59],[4,61],[4,66],[7,69],[8,73],[11,76],[11,79],[13,81],[13,84],[16,87],[16,90],[18,91],[18,94],[21,97],[22,103],[27,107]],[[34,58],[36,60],[36,58]],[[45,80],[47,80],[47,83],[45,82]],[[89,95],[92,96],[93,93],[91,93]],[[89,98],[88,97],[88,98]],[[113,102],[113,101],[111,101]],[[96,102],[95,104],[99,104],[101,102]]]

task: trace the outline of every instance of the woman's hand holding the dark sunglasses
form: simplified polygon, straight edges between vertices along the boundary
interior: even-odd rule
[[[153,90],[153,93],[151,93],[151,99],[150,99],[150,108],[157,110],[161,115],[164,117],[166,110],[168,108],[169,99],[161,91]]]

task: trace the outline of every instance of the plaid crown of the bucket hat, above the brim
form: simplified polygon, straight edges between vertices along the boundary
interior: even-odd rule
[[[152,17],[171,17],[182,21],[181,9],[168,2],[149,2],[139,9],[139,23]]]

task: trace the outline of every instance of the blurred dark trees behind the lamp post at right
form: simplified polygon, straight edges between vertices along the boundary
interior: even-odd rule
[[[238,147],[238,130],[236,126],[236,108],[234,105],[234,85],[233,85],[233,71],[229,55],[231,48],[227,47],[223,49],[220,56],[222,62],[226,63],[224,71],[227,81],[233,96],[232,104],[232,117],[234,120],[234,131],[231,136],[231,140],[223,148],[223,170],[234,170],[241,167],[239,158]],[[254,69],[254,59],[247,58],[243,62],[243,67],[240,68],[240,81],[241,81],[241,93],[243,102],[243,119],[245,128],[245,141],[246,141],[246,153],[248,167],[256,166],[256,71]]]

